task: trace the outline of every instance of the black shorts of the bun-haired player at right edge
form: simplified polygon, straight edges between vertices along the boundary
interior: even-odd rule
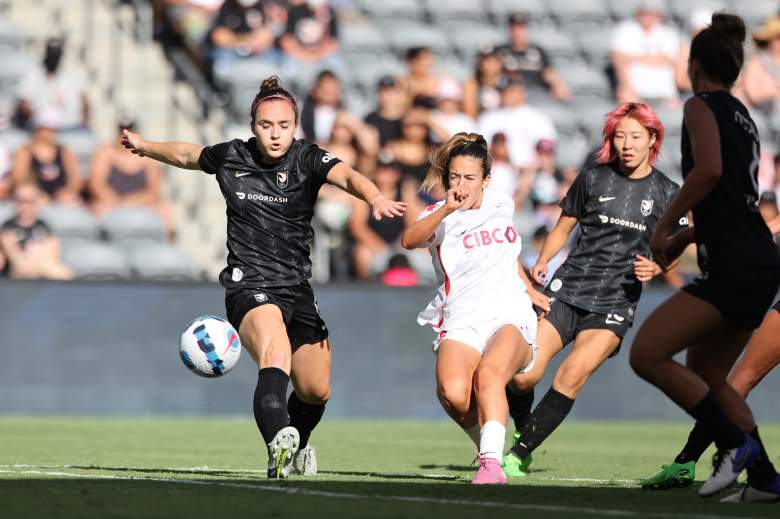
[[[726,322],[742,330],[761,326],[780,285],[780,271],[740,270],[710,274],[683,287],[721,313]],[[780,309],[778,310],[780,311]]]

